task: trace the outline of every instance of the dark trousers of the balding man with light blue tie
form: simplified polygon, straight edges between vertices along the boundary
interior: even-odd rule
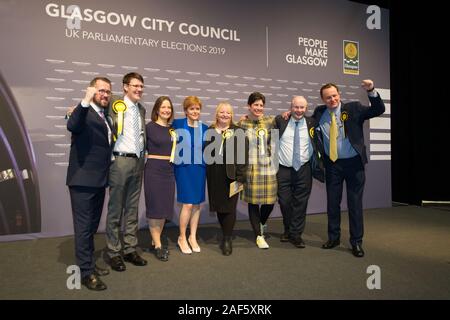
[[[293,239],[301,237],[305,230],[306,208],[312,188],[311,163],[305,163],[298,171],[280,165],[277,180],[284,232]]]

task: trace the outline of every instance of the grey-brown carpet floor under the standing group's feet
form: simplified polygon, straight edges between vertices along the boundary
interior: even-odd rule
[[[270,249],[260,250],[248,221],[235,228],[233,254],[218,247],[218,224],[201,225],[202,252],[182,255],[177,228],[167,228],[170,259],[158,261],[139,233],[145,267],[127,263],[125,272],[104,277],[108,290],[69,290],[67,266],[74,264],[73,237],[0,243],[0,299],[449,299],[450,213],[414,206],[365,210],[364,258],[348,249],[348,218],[342,215],[341,246],[321,249],[325,214],[309,215],[305,249],[279,241],[282,221],[268,222]],[[95,238],[102,256],[104,234]],[[102,259],[100,265],[105,265]],[[381,289],[369,290],[369,266],[380,268]]]

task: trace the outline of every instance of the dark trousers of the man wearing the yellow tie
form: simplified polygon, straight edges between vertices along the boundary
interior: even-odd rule
[[[361,244],[364,234],[362,200],[366,180],[361,157],[338,159],[336,162],[332,162],[325,156],[324,163],[327,186],[328,239],[337,240],[341,236],[341,201],[345,181],[350,244]]]

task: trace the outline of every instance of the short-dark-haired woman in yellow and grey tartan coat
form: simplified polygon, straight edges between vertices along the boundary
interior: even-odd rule
[[[264,239],[264,225],[277,200],[277,155],[272,154],[272,131],[275,119],[264,116],[266,98],[262,93],[253,92],[247,101],[249,114],[239,121],[249,139],[249,164],[247,183],[244,185],[242,200],[248,203],[248,216],[260,249],[268,249]],[[275,150],[273,150],[275,151]]]

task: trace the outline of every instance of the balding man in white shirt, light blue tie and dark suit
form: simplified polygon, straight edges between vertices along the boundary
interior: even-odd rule
[[[312,188],[312,159],[316,164],[321,161],[315,142],[315,122],[305,116],[307,108],[306,99],[296,96],[291,101],[289,118],[281,115],[275,118],[280,130],[278,202],[284,225],[280,241],[289,241],[297,248],[305,248],[302,234]]]

